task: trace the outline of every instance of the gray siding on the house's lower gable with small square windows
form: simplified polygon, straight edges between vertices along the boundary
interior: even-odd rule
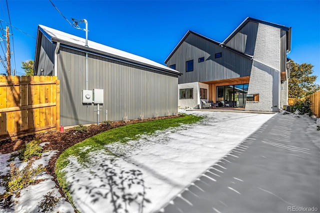
[[[221,52],[222,57],[215,58]],[[198,62],[204,57],[203,62]],[[193,59],[193,71],[185,72],[185,62]],[[208,81],[249,76],[252,61],[221,46],[209,42],[194,34],[189,34],[183,43],[167,61],[175,64],[175,69],[182,73],[178,83]]]

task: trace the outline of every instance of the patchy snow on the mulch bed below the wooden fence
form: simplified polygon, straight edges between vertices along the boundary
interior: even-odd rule
[[[39,164],[42,164],[43,167],[48,164],[49,159],[56,153],[57,151],[48,151],[42,153],[41,158],[36,159],[33,162],[33,167],[36,167]],[[1,154],[0,153],[0,169],[1,171],[7,172],[9,170],[7,159],[10,154]],[[21,170],[26,162],[21,162],[16,157],[14,159],[15,166]],[[3,169],[3,170],[2,170]],[[4,172],[1,172],[0,175],[4,175]],[[0,208],[0,212],[19,212],[19,213],[31,213],[31,212],[41,212],[39,208],[39,203],[44,200],[44,195],[50,192],[51,196],[58,198],[55,207],[50,212],[74,212],[72,205],[65,201],[65,198],[61,197],[60,192],[55,187],[55,182],[51,179],[52,176],[48,175],[46,172],[41,172],[39,175],[35,177],[36,180],[42,180],[35,185],[28,185],[20,191],[20,196],[16,197],[12,196],[13,205],[11,208],[2,209]],[[5,191],[3,186],[0,187],[0,194]]]

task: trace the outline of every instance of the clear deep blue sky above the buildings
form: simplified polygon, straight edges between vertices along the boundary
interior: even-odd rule
[[[221,42],[248,16],[291,26],[291,52],[287,56],[298,63],[313,64],[313,74],[319,76],[316,83],[320,84],[320,0],[52,2],[70,21],[71,17],[87,19],[89,40],[162,64],[188,29]],[[10,36],[11,51],[14,45],[11,67],[16,68],[18,75],[24,73],[21,61],[34,59],[38,24],[85,37],[84,31],[71,27],[49,0],[7,0],[7,4],[6,0],[0,0],[0,19],[11,20],[14,26],[13,43]],[[5,28],[3,21],[1,24]],[[5,34],[3,30],[2,33]],[[4,46],[4,41],[0,42]],[[1,46],[0,56],[5,56]],[[0,73],[3,72],[5,70],[0,65]]]

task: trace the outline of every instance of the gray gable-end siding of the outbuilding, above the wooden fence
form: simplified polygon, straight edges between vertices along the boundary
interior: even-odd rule
[[[55,44],[42,36],[36,75],[47,75],[50,71],[53,71],[54,49]],[[43,73],[40,71],[41,68],[43,68]]]

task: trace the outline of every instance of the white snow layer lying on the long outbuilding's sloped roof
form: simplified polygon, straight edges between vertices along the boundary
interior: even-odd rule
[[[83,48],[87,48],[87,47],[85,47],[85,38],[81,38],[81,37],[78,37],[78,36],[75,36],[75,35],[72,35],[72,34],[69,34],[66,32],[62,32],[60,30],[53,29],[48,26],[44,26],[44,25],[38,25],[38,26],[39,26],[40,30],[42,29],[41,31],[45,33],[45,35],[47,36],[47,38],[50,41],[52,41],[52,38],[53,38],[53,40],[54,40],[54,38],[56,38],[58,40],[66,41],[67,44],[76,44],[76,45],[83,46]],[[174,72],[177,74],[180,73],[179,71],[177,71],[175,69],[172,69],[170,67],[162,65],[160,63],[157,63],[157,62],[150,60],[150,59],[147,59],[145,57],[141,57],[141,56],[138,56],[138,55],[126,52],[126,51],[122,51],[120,49],[116,49],[116,48],[113,48],[110,46],[106,46],[104,44],[97,43],[97,42],[94,42],[91,40],[88,40],[88,47],[92,51],[98,50],[98,51],[106,53],[107,55],[111,54],[114,56],[119,56],[121,58],[129,59],[131,61],[135,61],[138,64],[149,65],[151,67],[160,68],[162,70],[164,69],[169,72]]]

